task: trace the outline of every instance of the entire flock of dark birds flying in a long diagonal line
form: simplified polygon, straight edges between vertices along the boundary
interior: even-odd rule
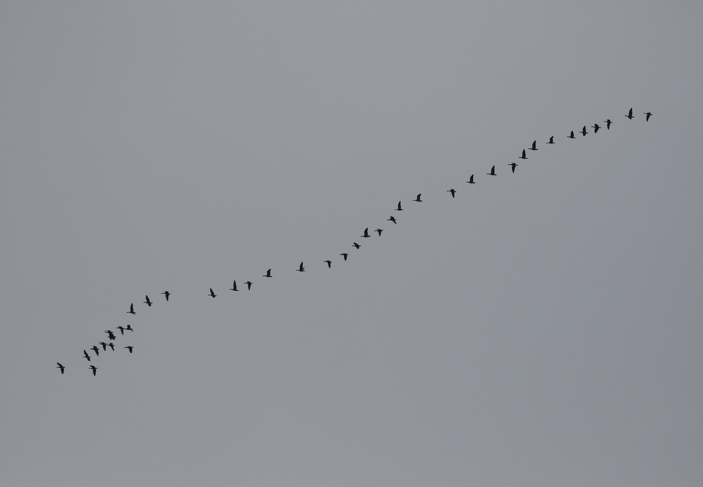
[[[649,122],[649,121],[650,121],[650,117],[652,117],[652,112],[643,112],[643,113],[644,113],[644,115],[645,115],[645,122]],[[628,111],[627,115],[625,115],[625,117],[627,117],[628,119],[633,119],[633,118],[634,118],[634,115],[632,114],[632,108],[630,108],[630,110]],[[611,125],[613,122],[612,122],[611,119],[606,119],[603,123],[605,124],[605,129],[606,129],[606,130],[610,130],[610,125]],[[593,134],[598,134],[598,130],[600,130],[602,127],[601,127],[599,124],[593,124],[593,125],[591,125],[591,128],[593,129]],[[583,126],[583,129],[581,129],[581,130],[579,131],[579,133],[580,133],[582,136],[586,136],[586,134],[589,133],[588,130],[587,130],[587,128],[586,128],[586,125]],[[571,131],[571,134],[569,134],[569,135],[567,136],[567,138],[576,138],[576,136],[574,135],[574,131],[573,131],[573,130]],[[555,143],[555,141],[554,141],[554,136],[551,136],[551,137],[549,138],[549,141],[547,141],[546,143],[547,143],[547,144],[554,144],[554,143]],[[537,149],[537,141],[533,141],[531,147],[529,147],[529,148],[527,148],[527,149],[523,149],[523,150],[522,150],[522,155],[520,155],[518,158],[519,158],[519,159],[522,159],[522,160],[526,160],[526,159],[527,159],[527,150],[538,150],[538,149]],[[510,169],[512,170],[512,173],[515,173],[515,168],[518,166],[518,164],[517,164],[517,162],[510,162],[510,164],[508,164],[508,166],[509,166]],[[490,171],[489,173],[486,173],[486,174],[487,174],[488,176],[497,176],[497,174],[496,174],[496,166],[491,167],[491,171]],[[469,177],[469,180],[466,181],[466,182],[469,183],[469,184],[475,184],[474,176],[475,176],[475,175],[472,174],[472,175]],[[456,195],[456,190],[453,189],[453,188],[449,188],[448,190],[446,190],[446,192],[447,192],[447,193],[451,193],[451,197],[454,197],[454,195]],[[417,195],[417,197],[415,197],[415,199],[412,200],[412,201],[413,201],[413,202],[418,202],[418,203],[423,202],[423,200],[421,199],[422,195],[423,195],[423,193],[419,193],[419,194]],[[404,210],[403,204],[402,204],[402,203],[403,203],[402,200],[399,201],[399,202],[398,202],[398,207],[397,207],[394,211],[396,211],[396,212],[402,212],[402,211]],[[396,225],[398,224],[398,221],[397,221],[396,218],[395,218],[394,216],[392,216],[392,215],[387,219],[387,221],[391,221],[392,223],[394,223],[394,224],[396,224]],[[380,236],[381,236],[381,233],[383,233],[384,230],[383,230],[382,228],[376,228],[375,230],[372,230],[372,231],[378,233],[378,236],[380,237]],[[366,229],[363,230],[363,235],[361,235],[361,238],[370,238],[370,237],[371,237],[371,235],[369,234],[369,230],[368,230],[368,227],[367,227]],[[360,245],[359,243],[357,243],[357,242],[352,242],[352,247],[354,247],[354,248],[356,248],[356,249],[359,249],[359,248],[361,248],[361,245]],[[342,253],[340,254],[340,256],[342,256],[342,257],[344,258],[344,261],[346,261],[346,260],[347,260],[347,257],[349,257],[349,253],[348,253],[348,252],[342,252]],[[331,261],[330,259],[327,259],[327,260],[323,261],[323,263],[327,264],[328,268],[332,268],[332,261]],[[300,265],[298,266],[298,268],[295,269],[295,271],[298,271],[298,272],[305,272],[304,262],[301,262]],[[262,277],[264,277],[264,278],[272,278],[273,275],[271,275],[271,269],[269,269],[268,271],[266,271],[266,273],[265,273],[264,275],[262,275]],[[247,290],[251,290],[251,289],[252,289],[252,284],[253,284],[252,281],[247,280],[247,281],[244,282],[244,284],[247,286]],[[215,292],[214,292],[214,290],[212,289],[212,287],[210,287],[209,290],[210,290],[210,292],[209,292],[209,294],[207,294],[207,296],[212,297],[212,298],[216,298],[216,297],[217,297],[217,294],[215,294]],[[238,288],[237,288],[237,281],[236,281],[236,280],[233,281],[232,287],[230,288],[230,290],[231,290],[231,291],[239,291]],[[162,292],[161,294],[163,294],[163,295],[165,296],[166,301],[169,301],[169,296],[171,296],[172,293],[169,292],[169,291],[164,291],[164,292]],[[151,307],[152,304],[153,304],[153,301],[151,301],[151,299],[149,299],[149,297],[148,297],[148,295],[147,295],[145,301],[143,301],[143,304],[146,304],[147,306]],[[129,311],[127,311],[127,313],[128,313],[128,314],[131,314],[131,315],[136,315],[136,311],[134,311],[134,303],[131,303],[131,304],[129,305]],[[116,329],[117,329],[117,330],[120,330],[120,337],[124,337],[124,332],[126,332],[126,331],[134,332],[134,328],[132,328],[131,325],[127,325],[126,327],[117,326]],[[84,350],[83,350],[83,356],[82,356],[82,358],[85,358],[86,361],[91,362],[91,365],[89,365],[88,368],[89,368],[89,370],[91,370],[91,372],[93,372],[93,375],[97,375],[98,368],[96,367],[96,365],[93,365],[92,359],[93,359],[93,358],[98,358],[98,357],[100,356],[101,348],[102,348],[102,351],[105,352],[105,353],[107,353],[108,347],[110,347],[110,351],[115,351],[115,343],[114,343],[114,342],[117,341],[117,335],[115,335],[115,332],[113,332],[112,330],[105,330],[105,333],[108,335],[108,340],[109,340],[109,342],[98,342],[97,345],[93,345],[93,346],[89,347],[89,349],[84,349]],[[98,346],[98,345],[100,345],[100,346]],[[132,352],[134,351],[134,346],[132,346],[132,345],[127,345],[127,346],[124,346],[124,347],[122,347],[122,348],[123,348],[123,349],[127,349],[127,351],[129,351],[129,353],[132,353]],[[91,354],[88,353],[88,350],[92,350],[94,355],[91,356]],[[65,365],[61,364],[60,362],[57,362],[57,363],[56,363],[56,368],[58,368],[58,369],[60,370],[61,374],[63,374],[63,373],[65,372],[65,370],[66,370]]]

